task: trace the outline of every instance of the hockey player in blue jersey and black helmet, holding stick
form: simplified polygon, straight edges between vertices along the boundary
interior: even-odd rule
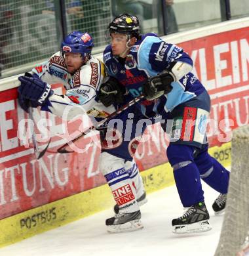
[[[206,121],[210,96],[199,79],[191,73],[193,62],[182,48],[166,43],[153,33],[140,35],[136,16],[121,14],[109,24],[111,44],[103,59],[107,73],[119,80],[128,92],[126,100],[144,93],[138,104],[147,118],[162,116],[164,131],[170,127],[166,154],[183,207],[187,211],[172,220],[173,232],[210,230],[201,179],[220,192],[212,205],[216,214],[225,209],[229,182],[227,171],[208,154]],[[116,87],[105,84],[100,99],[108,106],[115,103]]]

